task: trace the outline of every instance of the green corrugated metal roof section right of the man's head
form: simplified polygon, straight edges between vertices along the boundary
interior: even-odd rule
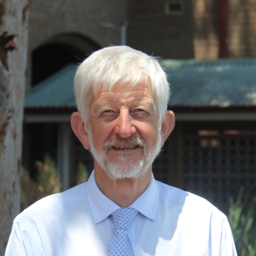
[[[256,59],[164,60],[169,106],[256,105]]]

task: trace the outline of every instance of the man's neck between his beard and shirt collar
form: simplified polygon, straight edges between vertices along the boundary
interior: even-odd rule
[[[150,184],[152,166],[138,178],[111,179],[94,161],[94,174],[100,191],[121,208],[129,207]]]

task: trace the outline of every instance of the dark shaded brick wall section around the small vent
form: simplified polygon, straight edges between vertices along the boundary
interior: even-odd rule
[[[181,1],[180,14],[165,13],[163,0],[131,0],[127,5],[129,46],[163,58],[193,58],[191,1]]]

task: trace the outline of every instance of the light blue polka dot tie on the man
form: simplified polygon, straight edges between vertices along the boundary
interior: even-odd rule
[[[134,256],[133,247],[127,233],[137,214],[138,211],[134,208],[120,208],[112,213],[114,234],[110,241],[110,256]]]

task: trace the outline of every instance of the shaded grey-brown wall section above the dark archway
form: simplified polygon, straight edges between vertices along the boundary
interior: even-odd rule
[[[119,45],[125,17],[125,0],[31,0],[29,52],[70,33],[100,47]]]

